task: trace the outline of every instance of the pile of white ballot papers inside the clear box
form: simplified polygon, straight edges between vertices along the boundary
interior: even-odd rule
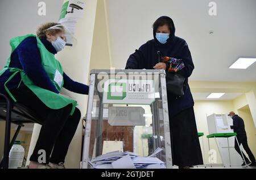
[[[156,154],[163,149],[158,148],[148,157],[141,157],[131,152],[114,151],[103,154],[89,161],[95,169],[160,169],[166,168],[163,161],[156,158]]]

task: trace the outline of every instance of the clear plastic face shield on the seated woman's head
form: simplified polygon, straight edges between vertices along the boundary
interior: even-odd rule
[[[56,24],[55,26],[49,27],[47,30],[61,30],[64,31],[64,36],[66,37],[66,46],[74,47],[77,45],[77,39],[74,36],[75,31],[70,31],[64,24]]]

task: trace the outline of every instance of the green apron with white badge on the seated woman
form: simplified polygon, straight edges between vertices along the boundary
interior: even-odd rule
[[[18,47],[18,45],[27,37],[31,37],[35,35],[26,35],[26,36],[20,36],[20,37],[15,37],[11,39],[10,45],[11,45],[11,52]],[[38,49],[40,51],[41,55],[41,62],[44,70],[46,70],[48,77],[51,79],[51,82],[55,85],[56,89],[60,91],[61,87],[63,87],[64,81],[63,81],[63,69],[60,65],[60,62],[55,59],[55,56],[50,53],[46,47],[43,45],[43,43],[36,37],[37,39],[37,45]],[[5,90],[7,93],[10,95],[10,97],[13,99],[14,102],[16,102],[16,99],[14,96],[11,94],[9,89],[7,88],[6,84],[17,74],[20,73],[20,76],[22,78],[21,81],[44,103],[46,104],[47,107],[53,109],[53,110],[58,110],[60,108],[63,108],[67,106],[68,104],[72,104],[73,108],[71,111],[71,115],[75,111],[75,107],[77,106],[77,102],[73,99],[69,99],[67,97],[64,97],[61,94],[56,94],[53,93],[52,91],[43,89],[42,87],[36,86],[31,79],[27,76],[27,74],[24,72],[22,69],[18,68],[10,68],[10,61],[11,57],[8,58],[7,63],[5,65],[5,68],[3,68],[0,72],[0,76],[7,70],[9,69],[10,72],[13,74],[10,76],[9,79],[5,82]],[[20,81],[20,82],[21,82]],[[19,86],[18,86],[19,88]]]

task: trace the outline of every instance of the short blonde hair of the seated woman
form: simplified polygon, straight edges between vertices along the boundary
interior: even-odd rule
[[[58,24],[59,23],[44,23],[38,27],[38,30],[36,31],[36,35],[39,37],[39,39],[46,39],[46,32],[49,32],[49,34],[51,34],[53,36],[59,32],[65,32],[63,26],[59,26],[59,28],[61,28],[61,29],[53,28],[53,29],[48,30],[48,28],[50,28],[52,26],[56,26]]]

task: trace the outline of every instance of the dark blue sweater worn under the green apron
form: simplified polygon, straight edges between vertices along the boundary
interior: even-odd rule
[[[52,44],[46,39],[40,39],[47,50],[53,54],[56,54],[55,48]],[[46,71],[44,70],[40,51],[37,47],[36,37],[27,37],[18,45],[18,47],[11,53],[11,68],[19,68],[23,69],[28,77],[35,83],[36,86],[42,87],[43,89],[47,89],[49,91],[59,93],[56,89],[55,85],[49,79]],[[6,94],[6,90],[4,87],[5,82],[11,76],[9,70],[6,70],[5,73],[0,77],[0,93]],[[71,78],[67,76],[67,74],[63,74],[64,85],[63,87],[69,91],[73,91],[74,93],[79,94],[88,94],[89,86],[84,85],[79,82],[73,81]],[[20,74],[16,74],[11,81],[7,83],[7,87],[9,90],[13,90],[18,87],[20,82]],[[24,86],[24,83],[20,83],[20,86]]]

